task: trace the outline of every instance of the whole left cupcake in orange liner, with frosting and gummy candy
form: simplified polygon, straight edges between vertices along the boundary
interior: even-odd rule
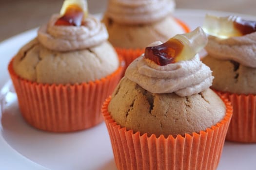
[[[65,0],[8,70],[20,112],[33,127],[71,132],[103,121],[100,107],[118,84],[122,60],[87,1]]]

